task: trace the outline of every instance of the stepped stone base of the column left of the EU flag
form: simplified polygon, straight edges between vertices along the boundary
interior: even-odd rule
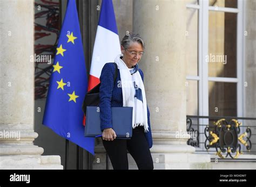
[[[0,169],[63,169],[60,156],[42,156],[44,149],[33,145],[38,134],[33,130],[21,130],[21,125],[1,125],[2,134],[18,136],[2,136],[0,139]],[[14,133],[15,132],[15,133]]]

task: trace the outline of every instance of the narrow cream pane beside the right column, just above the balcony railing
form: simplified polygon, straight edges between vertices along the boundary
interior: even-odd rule
[[[198,81],[186,81],[187,115],[198,116]]]

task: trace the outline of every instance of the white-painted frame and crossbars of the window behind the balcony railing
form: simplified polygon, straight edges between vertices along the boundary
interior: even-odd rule
[[[208,0],[199,0],[199,4],[187,4],[187,9],[198,10],[198,76],[186,76],[186,80],[198,81],[198,114],[209,116],[208,81],[237,83],[237,116],[244,117],[245,112],[245,71],[244,71],[244,31],[245,31],[245,2],[238,0],[238,8],[226,8],[209,6]],[[237,78],[208,77],[208,63],[205,56],[208,55],[208,17],[209,11],[237,13]],[[199,124],[208,124],[208,119],[199,119]],[[199,141],[205,140],[205,126],[199,127]],[[205,150],[204,145],[199,147]]]

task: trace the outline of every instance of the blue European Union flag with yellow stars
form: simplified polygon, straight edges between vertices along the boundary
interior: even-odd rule
[[[84,137],[82,103],[85,59],[75,0],[69,0],[53,63],[43,124],[94,155],[95,138]]]

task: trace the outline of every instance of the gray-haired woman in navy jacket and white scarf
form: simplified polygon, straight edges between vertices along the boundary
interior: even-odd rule
[[[110,157],[113,169],[129,169],[127,150],[136,161],[138,169],[153,169],[150,153],[152,134],[150,111],[147,107],[143,71],[138,62],[144,54],[145,44],[139,34],[126,34],[121,42],[122,54],[114,62],[117,64],[117,78],[114,82],[115,66],[106,63],[100,75],[100,128],[103,146]],[[131,82],[126,86],[124,82]],[[121,83],[121,86],[120,86]],[[112,128],[111,107],[133,107],[131,139],[116,139]]]

